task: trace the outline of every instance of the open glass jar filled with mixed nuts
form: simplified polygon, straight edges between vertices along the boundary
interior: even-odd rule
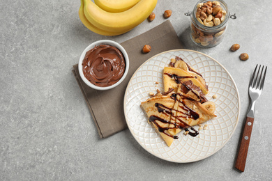
[[[229,10],[222,1],[199,1],[190,15],[190,37],[200,47],[214,47],[222,42]]]

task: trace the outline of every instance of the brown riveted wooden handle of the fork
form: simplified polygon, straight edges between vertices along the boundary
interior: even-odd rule
[[[245,171],[245,161],[248,155],[248,147],[250,143],[253,121],[254,118],[246,117],[245,127],[243,128],[243,136],[241,138],[240,148],[235,164],[235,168],[239,169],[239,171]]]

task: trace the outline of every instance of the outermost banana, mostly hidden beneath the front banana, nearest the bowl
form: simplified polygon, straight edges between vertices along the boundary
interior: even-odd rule
[[[86,28],[93,31],[94,33],[98,33],[98,34],[103,35],[103,36],[118,36],[118,35],[121,35],[121,34],[127,32],[127,31],[110,32],[110,31],[105,31],[103,29],[98,29],[96,26],[93,26],[93,24],[91,24],[88,21],[88,19],[86,19],[85,15],[84,15],[84,12],[83,12],[83,9],[84,9],[84,0],[81,0],[80,10],[78,10],[80,20],[82,21],[84,26],[86,26]],[[128,31],[130,31],[130,30],[128,30]]]

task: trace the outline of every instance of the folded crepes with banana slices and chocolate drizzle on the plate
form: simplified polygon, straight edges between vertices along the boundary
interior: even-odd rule
[[[216,117],[215,104],[205,97],[209,89],[202,74],[180,57],[172,58],[164,68],[163,85],[165,93],[142,102],[141,107],[168,146],[182,129]]]

